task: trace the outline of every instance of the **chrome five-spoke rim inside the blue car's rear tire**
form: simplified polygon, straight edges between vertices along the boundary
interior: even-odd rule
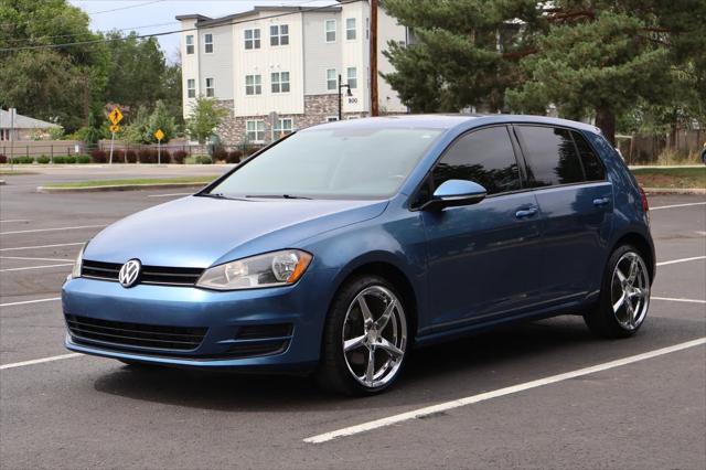
[[[611,281],[611,303],[618,323],[628,331],[644,321],[650,305],[650,274],[634,252],[620,257]]]

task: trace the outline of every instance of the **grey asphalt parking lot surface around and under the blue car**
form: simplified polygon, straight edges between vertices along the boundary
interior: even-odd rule
[[[58,296],[81,244],[183,191],[39,194],[38,185],[76,177],[6,179],[3,469],[706,468],[703,195],[650,199],[660,267],[634,338],[593,339],[578,317],[505,327],[416,351],[389,393],[351,399],[304,377],[132,368],[68,354]]]

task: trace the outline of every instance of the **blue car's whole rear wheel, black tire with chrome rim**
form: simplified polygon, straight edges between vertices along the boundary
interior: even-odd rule
[[[638,332],[650,307],[650,270],[638,248],[616,248],[603,273],[598,303],[584,314],[586,324],[601,338],[628,338]]]

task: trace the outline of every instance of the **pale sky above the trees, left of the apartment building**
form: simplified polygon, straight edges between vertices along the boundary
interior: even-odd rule
[[[178,30],[178,14],[196,13],[217,18],[255,6],[301,6],[319,7],[333,0],[68,0],[90,17],[94,31],[135,30],[139,34]],[[179,34],[159,38],[170,62],[174,62],[179,51]]]

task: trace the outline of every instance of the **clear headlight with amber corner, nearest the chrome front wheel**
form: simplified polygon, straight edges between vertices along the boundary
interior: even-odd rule
[[[312,256],[299,249],[284,249],[214,266],[204,271],[197,287],[217,290],[256,289],[297,282]]]

